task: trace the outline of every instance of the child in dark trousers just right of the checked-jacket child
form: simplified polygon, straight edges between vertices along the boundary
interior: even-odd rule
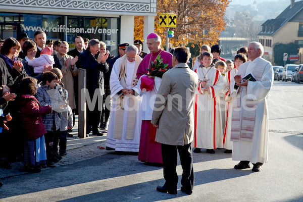
[[[62,95],[63,100],[67,100],[68,93],[67,90],[63,88],[64,84],[61,82],[61,79],[63,77],[62,72],[58,68],[54,68],[51,70],[51,72],[54,72],[58,76],[57,80],[57,86],[56,89],[59,90],[60,94]],[[60,120],[60,133],[55,136],[54,138],[54,145],[53,145],[53,151],[55,156],[58,159],[61,159],[61,156],[65,156],[66,153],[66,144],[67,144],[67,130],[68,128],[73,127],[73,112],[70,106],[68,104],[66,105],[68,108],[68,111],[61,112],[61,120]],[[59,154],[58,154],[58,141],[59,141]]]

